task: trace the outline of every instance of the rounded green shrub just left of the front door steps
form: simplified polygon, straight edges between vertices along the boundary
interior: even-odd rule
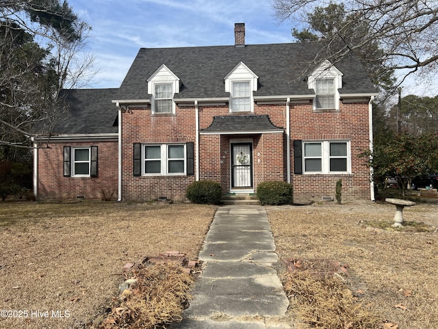
[[[222,189],[218,182],[200,180],[188,186],[185,196],[194,204],[219,204]]]

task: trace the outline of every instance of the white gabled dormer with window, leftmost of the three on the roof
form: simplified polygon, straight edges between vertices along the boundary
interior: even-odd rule
[[[152,114],[175,113],[173,95],[179,93],[180,80],[175,73],[164,64],[149,77],[148,94],[151,96]]]

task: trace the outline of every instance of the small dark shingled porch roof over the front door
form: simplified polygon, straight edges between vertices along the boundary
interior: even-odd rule
[[[268,115],[227,115],[213,118],[201,134],[245,134],[247,132],[284,132],[270,121]]]

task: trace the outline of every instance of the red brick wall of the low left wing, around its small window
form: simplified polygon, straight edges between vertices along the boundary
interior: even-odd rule
[[[64,177],[64,146],[97,146],[98,177]],[[102,190],[117,199],[117,149],[117,142],[51,143],[38,149],[38,199],[103,199]]]

